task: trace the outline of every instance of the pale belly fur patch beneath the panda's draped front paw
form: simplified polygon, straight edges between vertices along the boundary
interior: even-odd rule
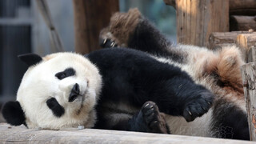
[[[212,119],[212,109],[193,122],[186,122],[185,118],[166,114],[166,124],[170,128],[170,133],[179,135],[212,137],[210,119]]]

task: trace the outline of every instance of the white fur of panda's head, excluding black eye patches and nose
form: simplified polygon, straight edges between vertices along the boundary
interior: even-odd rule
[[[25,112],[27,126],[56,130],[78,125],[94,126],[94,106],[102,88],[97,67],[82,55],[73,53],[51,54],[43,59],[36,66],[30,66],[18,89],[17,100]],[[74,76],[62,80],[55,77],[70,67],[75,70]],[[78,83],[82,97],[68,102],[75,83]],[[64,107],[65,113],[61,118],[55,117],[46,105],[49,98],[56,98]]]

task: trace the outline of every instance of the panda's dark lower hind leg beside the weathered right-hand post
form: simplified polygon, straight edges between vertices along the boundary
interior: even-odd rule
[[[216,138],[250,139],[246,113],[223,99],[214,104],[212,130]]]

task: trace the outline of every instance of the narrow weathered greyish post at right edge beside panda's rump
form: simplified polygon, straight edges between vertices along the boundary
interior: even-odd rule
[[[246,98],[247,118],[250,128],[250,140],[256,141],[256,47],[250,50],[250,63],[241,67],[243,90]]]

